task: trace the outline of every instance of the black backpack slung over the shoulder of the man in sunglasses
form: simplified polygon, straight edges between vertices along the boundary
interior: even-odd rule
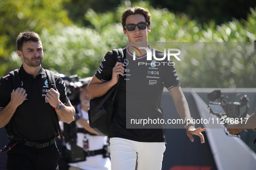
[[[121,62],[123,60],[123,50],[120,48],[112,51],[116,60]],[[103,96],[90,100],[90,108],[87,111],[90,127],[100,135],[109,136],[110,134],[110,125],[115,110],[113,104],[120,81],[119,78],[117,84]]]

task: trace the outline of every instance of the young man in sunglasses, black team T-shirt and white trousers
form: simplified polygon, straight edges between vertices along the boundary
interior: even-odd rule
[[[174,66],[150,67],[150,64],[144,67],[136,66],[138,61],[146,62],[146,50],[141,50],[133,60],[133,52],[136,48],[146,47],[152,50],[148,45],[148,33],[151,31],[150,18],[149,10],[141,7],[126,9],[123,12],[121,17],[123,32],[129,41],[128,47],[123,49],[124,60],[116,62],[113,52],[108,52],[88,85],[88,96],[97,98],[116,85],[119,78],[122,80],[117,89],[115,113],[109,135],[112,170],[134,170],[137,157],[138,170],[161,170],[165,151],[164,126],[159,125],[156,126],[157,128],[149,126],[149,129],[143,129],[141,126],[135,127],[129,124],[127,118],[144,116],[150,119],[156,117],[162,119],[163,84],[172,95],[181,119],[184,121],[191,119],[188,103],[181,91]],[[163,53],[157,51],[156,54]],[[151,71],[156,73],[156,76],[150,83],[147,79],[149,75],[146,73]],[[198,135],[201,143],[204,143],[201,132],[206,129],[195,129],[192,123],[187,123],[185,127],[192,142],[194,141],[192,135]]]

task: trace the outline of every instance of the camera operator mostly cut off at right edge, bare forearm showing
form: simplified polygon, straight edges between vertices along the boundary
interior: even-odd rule
[[[254,41],[254,54],[256,54],[256,40]],[[252,115],[250,115],[247,121],[245,119],[237,124],[233,123],[227,125],[227,130],[231,135],[238,134],[245,129],[256,129],[256,110]]]

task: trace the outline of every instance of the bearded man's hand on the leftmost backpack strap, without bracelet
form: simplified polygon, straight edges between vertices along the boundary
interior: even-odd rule
[[[26,90],[24,90],[24,88],[17,88],[15,91],[13,89],[11,93],[10,102],[13,103],[13,105],[15,105],[16,107],[18,107],[23,103],[23,101],[25,101],[27,95],[28,94],[26,94]]]

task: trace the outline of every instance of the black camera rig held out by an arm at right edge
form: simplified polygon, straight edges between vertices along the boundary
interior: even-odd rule
[[[241,94],[237,94],[239,96]],[[236,98],[237,98],[236,96]],[[245,118],[250,106],[249,106],[249,97],[247,95],[242,96],[240,98],[240,102],[232,102],[224,100],[224,95],[221,95],[220,90],[214,90],[213,92],[207,94],[207,98],[209,99],[208,109],[210,113],[216,115],[218,118],[221,119],[230,119],[230,118]],[[235,99],[236,99],[235,98]],[[229,98],[230,99],[230,98]],[[240,109],[246,106],[246,110],[242,115],[240,115]],[[226,121],[225,121],[226,122]],[[227,126],[227,123],[224,124]]]

